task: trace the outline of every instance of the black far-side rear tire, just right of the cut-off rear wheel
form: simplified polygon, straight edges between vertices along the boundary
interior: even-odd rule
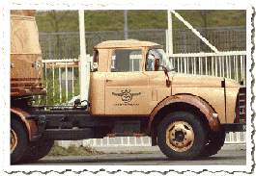
[[[42,139],[38,142],[29,142],[23,156],[18,163],[34,163],[47,155],[54,144],[54,140]]]

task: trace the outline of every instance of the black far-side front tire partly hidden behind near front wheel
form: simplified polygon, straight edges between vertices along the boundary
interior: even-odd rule
[[[211,132],[201,157],[210,157],[215,155],[224,145],[225,138],[226,133],[224,130],[221,130],[220,132]]]

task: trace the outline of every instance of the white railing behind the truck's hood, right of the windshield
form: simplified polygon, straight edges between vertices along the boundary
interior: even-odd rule
[[[178,72],[231,78],[246,84],[246,51],[172,54]]]

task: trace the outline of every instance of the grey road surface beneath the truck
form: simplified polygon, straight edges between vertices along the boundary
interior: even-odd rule
[[[95,156],[45,157],[37,163],[25,165],[245,165],[246,150],[220,150],[207,159],[195,161],[174,161],[168,159],[160,151],[147,154],[102,154]]]

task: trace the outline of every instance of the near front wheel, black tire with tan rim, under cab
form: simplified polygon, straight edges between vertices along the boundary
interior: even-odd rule
[[[195,159],[204,151],[206,141],[205,127],[192,113],[169,113],[158,126],[158,146],[169,159]]]

